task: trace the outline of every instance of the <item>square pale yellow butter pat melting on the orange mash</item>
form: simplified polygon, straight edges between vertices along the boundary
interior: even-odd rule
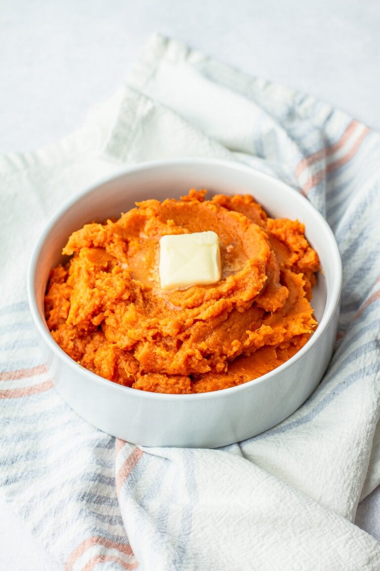
[[[218,234],[208,230],[162,236],[159,272],[162,289],[219,282],[221,268]]]

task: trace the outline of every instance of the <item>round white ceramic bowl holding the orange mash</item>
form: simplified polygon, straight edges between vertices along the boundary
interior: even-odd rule
[[[122,387],[87,371],[55,343],[44,319],[43,297],[50,268],[61,261],[68,236],[84,223],[119,217],[138,200],[178,198],[191,187],[207,188],[209,195],[252,194],[271,216],[299,219],[305,224],[322,267],[312,301],[318,327],[287,363],[237,387],[194,395]],[[307,199],[271,176],[240,164],[184,159],[130,168],[65,206],[36,246],[28,297],[56,389],[79,415],[113,436],[140,445],[213,448],[273,427],[314,391],[333,352],[341,282],[334,235]]]

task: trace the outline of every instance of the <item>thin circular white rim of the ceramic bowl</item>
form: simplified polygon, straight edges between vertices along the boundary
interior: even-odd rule
[[[316,216],[318,222],[324,227],[324,231],[326,235],[329,237],[331,242],[331,252],[330,255],[333,256],[332,263],[336,265],[336,276],[333,283],[333,287],[330,290],[330,303],[326,305],[324,308],[324,312],[322,313],[322,317],[320,322],[318,323],[318,327],[316,331],[314,331],[313,335],[307,341],[307,343],[299,350],[295,355],[293,355],[290,359],[285,361],[285,363],[279,365],[272,371],[265,373],[265,375],[261,375],[256,379],[252,379],[247,381],[246,383],[242,383],[239,385],[235,385],[234,387],[228,387],[224,389],[218,389],[216,391],[209,391],[209,392],[201,392],[201,393],[190,393],[190,394],[175,394],[175,393],[158,393],[158,392],[149,392],[149,391],[141,391],[138,389],[133,389],[132,387],[125,387],[125,385],[120,385],[115,383],[114,381],[105,379],[96,373],[93,373],[76,363],[71,357],[67,355],[63,351],[62,348],[59,347],[58,343],[52,337],[50,331],[47,328],[46,321],[40,315],[38,310],[38,303],[34,296],[34,283],[35,283],[35,273],[36,267],[38,263],[38,259],[40,256],[40,252],[46,242],[46,239],[51,234],[55,224],[58,222],[60,218],[72,208],[78,200],[84,199],[85,196],[91,194],[96,188],[101,187],[105,184],[111,183],[116,179],[122,178],[128,174],[133,174],[135,172],[141,171],[149,171],[154,170],[156,168],[170,168],[170,167],[189,167],[189,166],[215,166],[215,167],[228,167],[234,170],[239,170],[246,174],[254,174],[258,178],[262,178],[267,180],[268,182],[273,182],[277,185],[283,186],[284,191],[293,194],[295,200],[302,200],[305,201],[305,207],[307,209],[312,209],[313,215]],[[330,286],[329,286],[330,287]],[[340,256],[340,252],[338,249],[338,245],[333,234],[332,229],[330,228],[326,219],[320,214],[320,212],[310,203],[310,201],[298,192],[295,188],[290,186],[289,184],[283,182],[283,180],[277,179],[275,176],[268,174],[267,172],[260,171],[254,167],[248,166],[247,164],[239,163],[235,160],[226,160],[226,159],[213,159],[213,158],[175,158],[175,159],[165,159],[165,160],[152,160],[147,162],[141,162],[138,164],[134,164],[132,166],[125,166],[120,172],[113,176],[108,176],[104,179],[99,180],[96,184],[92,184],[90,187],[86,187],[83,191],[80,191],[78,194],[73,196],[71,199],[67,200],[62,207],[60,207],[55,214],[53,214],[46,224],[42,234],[39,236],[37,240],[34,251],[32,253],[30,265],[28,267],[28,274],[27,274],[27,297],[28,297],[28,304],[30,307],[30,311],[32,314],[32,319],[38,329],[40,336],[42,337],[44,343],[48,345],[48,348],[60,359],[63,360],[63,363],[68,365],[69,368],[73,369],[73,372],[77,373],[77,368],[80,367],[81,374],[85,377],[88,377],[88,380],[92,383],[103,385],[104,387],[109,387],[113,391],[121,391],[121,394],[129,395],[132,399],[148,399],[148,400],[161,400],[161,401],[197,401],[198,399],[222,399],[225,397],[231,397],[231,395],[235,393],[239,393],[240,391],[244,391],[252,387],[253,385],[263,384],[271,377],[278,375],[285,369],[292,367],[296,360],[302,359],[305,353],[309,352],[310,349],[318,342],[320,337],[324,335],[326,329],[328,329],[329,324],[334,318],[334,315],[340,306],[340,297],[342,291],[342,260]],[[327,299],[326,299],[327,302]],[[112,387],[112,388],[111,388]],[[126,391],[126,392],[125,392]]]

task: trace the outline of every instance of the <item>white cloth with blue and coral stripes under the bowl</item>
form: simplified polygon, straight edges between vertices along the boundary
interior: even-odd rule
[[[379,152],[377,133],[328,104],[156,36],[81,130],[0,157],[0,489],[66,571],[380,569],[380,545],[353,523],[380,483]],[[77,416],[26,301],[32,246],[63,201],[179,156],[291,184],[328,220],[344,266],[320,386],[283,423],[215,450],[141,448]]]

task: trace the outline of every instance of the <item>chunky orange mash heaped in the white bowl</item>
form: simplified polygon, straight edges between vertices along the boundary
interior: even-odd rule
[[[45,296],[73,360],[135,389],[196,393],[255,379],[307,342],[320,264],[303,224],[269,218],[252,196],[205,194],[145,200],[73,232]],[[219,236],[220,282],[161,289],[161,236],[205,230]]]

